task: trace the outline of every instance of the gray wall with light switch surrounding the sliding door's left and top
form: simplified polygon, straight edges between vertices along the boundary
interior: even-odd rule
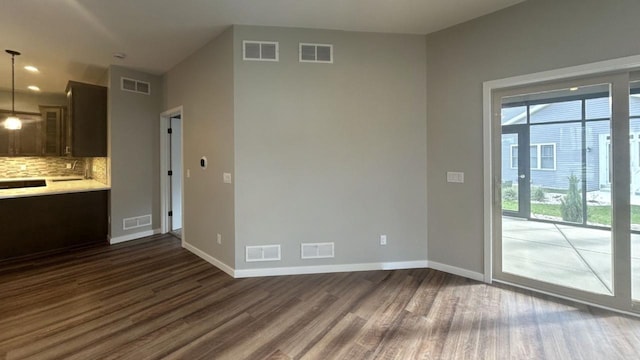
[[[427,36],[430,261],[483,272],[482,82],[638,55],[638,14],[636,0],[535,0]]]

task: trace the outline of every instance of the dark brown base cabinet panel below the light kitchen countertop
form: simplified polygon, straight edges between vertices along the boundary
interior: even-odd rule
[[[109,191],[0,200],[0,260],[106,244]]]

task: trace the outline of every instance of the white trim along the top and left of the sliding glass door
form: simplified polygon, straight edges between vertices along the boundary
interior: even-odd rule
[[[482,133],[483,133],[483,221],[484,221],[484,281],[491,283],[492,273],[492,237],[493,213],[492,200],[497,192],[497,175],[492,171],[492,92],[496,89],[514,86],[542,83],[572,77],[597,75],[613,71],[632,70],[640,67],[640,55],[633,55],[619,59],[599,61],[590,64],[571,66],[562,69],[542,71],[533,74],[514,76],[504,79],[485,81],[482,84]]]

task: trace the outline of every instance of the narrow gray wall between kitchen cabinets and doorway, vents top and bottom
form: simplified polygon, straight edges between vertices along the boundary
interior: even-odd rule
[[[109,136],[111,237],[160,228],[161,78],[111,66]],[[120,78],[151,84],[151,95],[120,90]],[[151,214],[152,226],[123,230],[124,218]]]

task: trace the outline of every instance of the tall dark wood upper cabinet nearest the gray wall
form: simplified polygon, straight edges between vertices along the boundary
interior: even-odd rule
[[[69,81],[66,155],[107,156],[107,88]]]

